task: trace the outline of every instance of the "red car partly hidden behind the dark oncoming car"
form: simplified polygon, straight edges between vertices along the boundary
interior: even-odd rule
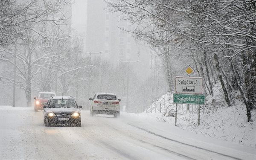
[[[43,106],[48,102],[49,98],[52,96],[56,96],[54,92],[39,92],[37,97],[34,97],[35,99],[35,112],[38,110],[43,110]]]

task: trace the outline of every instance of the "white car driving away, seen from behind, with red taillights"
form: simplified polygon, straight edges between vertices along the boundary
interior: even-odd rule
[[[96,93],[93,98],[89,98],[90,115],[96,114],[113,114],[116,118],[120,116],[120,104],[121,99],[117,99],[114,93]]]

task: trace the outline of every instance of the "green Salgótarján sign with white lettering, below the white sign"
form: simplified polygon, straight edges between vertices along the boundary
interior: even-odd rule
[[[173,94],[173,103],[204,105],[205,95],[203,94]]]

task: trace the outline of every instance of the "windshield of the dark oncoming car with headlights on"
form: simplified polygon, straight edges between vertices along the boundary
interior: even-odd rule
[[[48,108],[77,108],[74,99],[51,99]]]

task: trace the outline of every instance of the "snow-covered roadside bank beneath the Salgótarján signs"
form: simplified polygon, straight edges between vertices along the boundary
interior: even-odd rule
[[[187,105],[178,104],[177,127],[256,148],[256,111],[251,113],[253,122],[247,122],[246,107],[241,99],[236,99],[235,105],[227,107],[221,92],[215,88],[214,93],[215,96],[207,97],[207,105],[204,108],[201,105],[200,125],[197,105],[190,105],[187,110]],[[175,125],[176,104],[172,103],[172,94],[166,94],[165,98],[164,100],[164,95],[160,97],[157,103],[154,102],[142,115],[146,114],[157,121]]]

